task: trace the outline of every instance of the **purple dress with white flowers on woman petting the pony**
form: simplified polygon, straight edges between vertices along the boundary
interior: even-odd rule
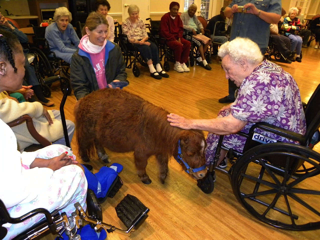
[[[228,116],[230,113],[235,118],[247,122],[241,132],[248,133],[251,126],[257,122],[267,122],[300,134],[306,132],[297,83],[283,68],[268,60],[264,60],[244,79],[235,102],[218,117]],[[277,141],[296,143],[270,132],[258,129],[255,132]],[[206,165],[214,159],[219,137],[212,132],[207,136]],[[245,137],[228,134],[224,136],[222,144],[242,152],[245,141]]]

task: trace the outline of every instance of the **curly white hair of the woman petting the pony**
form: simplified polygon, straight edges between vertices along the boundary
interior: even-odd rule
[[[258,44],[243,37],[236,37],[220,46],[218,56],[222,59],[226,55],[229,55],[234,62],[246,59],[253,65],[260,64],[263,60]]]

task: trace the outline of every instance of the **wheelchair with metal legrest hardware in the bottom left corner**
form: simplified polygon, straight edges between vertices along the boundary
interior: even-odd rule
[[[147,213],[149,212],[149,209],[143,205],[137,197],[127,194],[115,207],[117,216],[128,228],[127,230],[123,230],[102,221],[101,206],[91,189],[88,189],[86,201],[87,213],[83,210],[79,202],[76,202],[74,204],[75,211],[72,212],[69,217],[65,212],[60,214],[58,210],[50,213],[44,208],[37,208],[21,217],[11,218],[4,203],[0,199],[0,239],[3,239],[7,234],[7,229],[2,227],[4,223],[20,223],[38,214],[44,214],[44,219],[20,233],[18,236],[15,236],[12,240],[34,239],[41,236],[43,233],[46,233],[48,230],[59,237],[62,237],[61,234],[65,232],[68,239],[81,240],[81,236],[77,234],[77,230],[83,226],[84,222],[90,223],[95,231],[105,229],[108,233],[116,232],[125,236],[130,236],[131,232],[138,229],[148,217]]]

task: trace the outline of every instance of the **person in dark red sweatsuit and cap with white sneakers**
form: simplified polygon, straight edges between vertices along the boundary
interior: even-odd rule
[[[189,72],[186,62],[190,53],[191,43],[182,37],[183,24],[178,15],[180,4],[171,2],[170,12],[161,18],[160,33],[166,39],[166,44],[174,51],[174,70],[177,72]]]

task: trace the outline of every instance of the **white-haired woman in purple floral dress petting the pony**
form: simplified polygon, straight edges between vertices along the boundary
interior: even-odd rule
[[[236,100],[221,108],[218,118],[214,119],[192,120],[176,114],[168,115],[172,126],[209,131],[205,150],[207,165],[214,158],[219,135],[225,135],[224,146],[242,152],[246,138],[235,133],[240,130],[248,133],[258,122],[305,134],[306,121],[299,88],[289,73],[268,60],[262,61],[258,45],[248,38],[238,37],[221,45],[218,55],[222,58],[226,78],[239,87]],[[294,142],[270,132],[258,133],[259,140],[265,143]],[[217,162],[221,168],[227,167],[226,153],[221,150]]]

